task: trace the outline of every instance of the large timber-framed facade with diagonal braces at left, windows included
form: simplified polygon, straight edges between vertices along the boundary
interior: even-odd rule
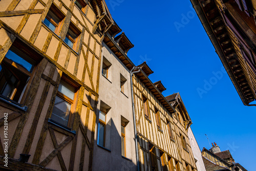
[[[112,26],[104,1],[0,2],[1,169],[4,113],[8,170],[92,169],[102,40]]]

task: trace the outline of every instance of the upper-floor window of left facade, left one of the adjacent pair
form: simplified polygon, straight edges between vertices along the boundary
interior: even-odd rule
[[[58,7],[52,4],[44,20],[44,24],[48,26],[54,33],[58,34],[64,17],[65,15],[58,9]]]

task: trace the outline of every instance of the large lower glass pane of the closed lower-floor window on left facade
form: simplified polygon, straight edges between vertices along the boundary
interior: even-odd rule
[[[71,104],[56,96],[51,119],[64,125],[68,125]]]

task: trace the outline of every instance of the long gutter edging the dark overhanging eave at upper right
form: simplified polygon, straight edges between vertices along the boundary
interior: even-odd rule
[[[245,99],[244,94],[243,94],[241,88],[239,87],[238,82],[237,82],[236,78],[234,77],[234,75],[233,75],[233,73],[232,73],[232,71],[231,71],[231,69],[230,69],[230,67],[229,67],[229,65],[228,65],[228,63],[227,63],[227,61],[225,59],[225,56],[224,56],[224,54],[222,52],[222,49],[221,49],[221,47],[219,45],[219,42],[216,39],[215,34],[211,30],[211,27],[210,27],[210,25],[209,25],[209,23],[207,21],[207,18],[205,17],[205,15],[203,13],[203,10],[202,10],[200,4],[198,3],[198,0],[190,0],[190,2],[192,3],[192,5],[193,5],[193,7],[194,7],[194,9],[195,9],[195,11],[196,11],[196,13],[197,13],[201,23],[202,23],[202,25],[203,25],[207,35],[209,36],[212,45],[214,45],[214,47],[216,49],[216,53],[220,57],[221,62],[223,63],[223,66],[226,69],[227,74],[230,77],[232,83],[234,84],[234,87],[236,88],[236,90],[237,90],[237,92],[238,92],[242,102],[244,103],[244,105],[248,105],[249,103]]]

